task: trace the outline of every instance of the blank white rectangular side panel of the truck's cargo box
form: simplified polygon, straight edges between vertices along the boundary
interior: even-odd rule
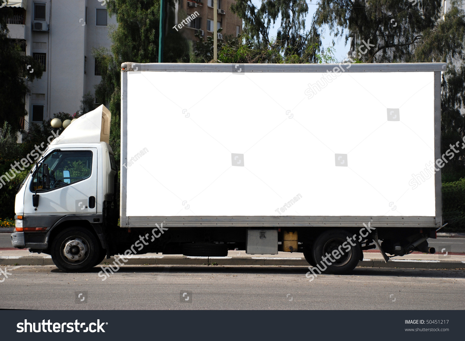
[[[435,216],[433,72],[322,79],[128,72],[127,216]]]

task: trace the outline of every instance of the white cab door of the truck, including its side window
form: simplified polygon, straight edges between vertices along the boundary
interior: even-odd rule
[[[41,161],[29,180],[24,197],[24,213],[37,216],[97,213],[97,148],[55,149]],[[39,196],[37,207],[33,195]]]

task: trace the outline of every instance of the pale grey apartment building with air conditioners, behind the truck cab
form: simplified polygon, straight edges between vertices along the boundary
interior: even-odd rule
[[[100,83],[100,65],[92,49],[110,47],[108,16],[104,0],[9,0],[10,39],[16,39],[26,55],[44,66],[41,79],[31,84],[26,98],[24,129],[59,111],[73,114],[82,96],[94,94]],[[98,102],[98,98],[96,99]]]

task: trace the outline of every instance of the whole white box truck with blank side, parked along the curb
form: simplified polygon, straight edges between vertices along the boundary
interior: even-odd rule
[[[434,253],[444,66],[123,63],[119,214],[102,105],[21,185],[13,246],[72,272],[128,249],[303,252],[337,274],[375,245]]]

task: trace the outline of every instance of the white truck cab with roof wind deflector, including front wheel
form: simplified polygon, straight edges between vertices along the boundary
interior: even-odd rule
[[[103,259],[103,216],[113,204],[116,175],[110,120],[101,105],[46,148],[15,198],[13,247],[48,253],[66,271]]]

